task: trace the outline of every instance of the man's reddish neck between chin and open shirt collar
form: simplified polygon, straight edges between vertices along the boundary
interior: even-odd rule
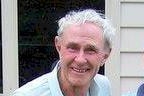
[[[64,79],[60,75],[60,71],[58,71],[58,80],[64,96],[87,96],[90,84],[86,86],[73,86]]]

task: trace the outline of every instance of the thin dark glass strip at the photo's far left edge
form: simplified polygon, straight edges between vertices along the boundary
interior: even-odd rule
[[[0,16],[1,16],[1,1],[0,1]],[[0,18],[0,93],[3,92],[3,76],[2,76],[2,40],[1,40],[1,18]]]

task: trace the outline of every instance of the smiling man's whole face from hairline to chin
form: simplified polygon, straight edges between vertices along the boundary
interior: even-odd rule
[[[96,75],[105,54],[102,29],[92,23],[72,25],[55,39],[60,56],[60,76],[72,86],[85,86]]]

